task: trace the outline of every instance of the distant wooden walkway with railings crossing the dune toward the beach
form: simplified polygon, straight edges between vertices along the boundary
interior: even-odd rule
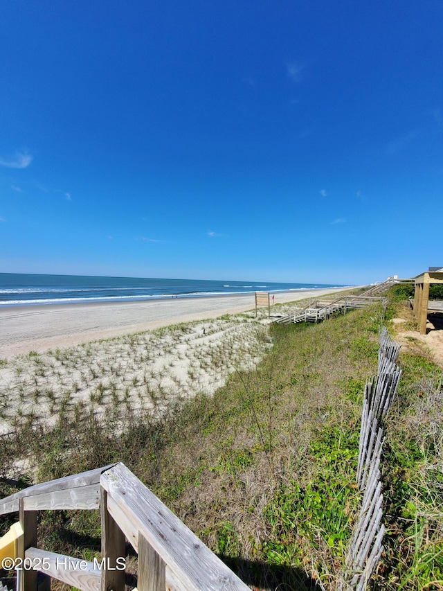
[[[343,296],[335,301],[314,300],[309,302],[306,308],[298,310],[293,314],[276,319],[275,324],[293,324],[297,322],[320,322],[329,318],[334,312],[355,310],[356,308],[365,308],[372,303],[380,301],[383,305],[388,303],[384,297],[373,296]]]

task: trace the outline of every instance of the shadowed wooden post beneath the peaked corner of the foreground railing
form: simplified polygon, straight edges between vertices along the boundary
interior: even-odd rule
[[[116,568],[117,558],[125,558],[125,536],[107,508],[108,493],[100,486],[100,516],[102,518],[102,559],[104,568],[100,591],[125,591],[125,571]]]

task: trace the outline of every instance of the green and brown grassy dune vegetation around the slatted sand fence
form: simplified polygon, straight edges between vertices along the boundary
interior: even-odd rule
[[[401,313],[395,290],[391,317]],[[123,461],[248,584],[301,590],[320,579],[334,589],[361,501],[363,387],[377,369],[382,318],[374,305],[323,324],[271,326],[273,347],[255,369],[237,367],[213,396],[170,401],[156,418],[123,398],[105,414],[73,412],[59,393],[55,425],[22,421],[3,437],[0,465],[8,475],[28,457],[42,481]],[[386,550],[373,588],[433,591],[443,585],[442,368],[424,351],[401,353],[399,364],[382,460]],[[18,488],[30,479],[26,465],[19,473]],[[1,496],[11,491],[0,481]],[[39,536],[48,549],[91,558],[98,512],[45,513]]]

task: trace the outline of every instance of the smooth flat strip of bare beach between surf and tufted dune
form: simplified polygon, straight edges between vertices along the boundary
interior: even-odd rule
[[[321,297],[349,289],[307,288],[296,292],[274,292],[274,303]],[[8,306],[0,308],[0,358],[73,346],[181,322],[213,319],[253,308],[253,293]]]

